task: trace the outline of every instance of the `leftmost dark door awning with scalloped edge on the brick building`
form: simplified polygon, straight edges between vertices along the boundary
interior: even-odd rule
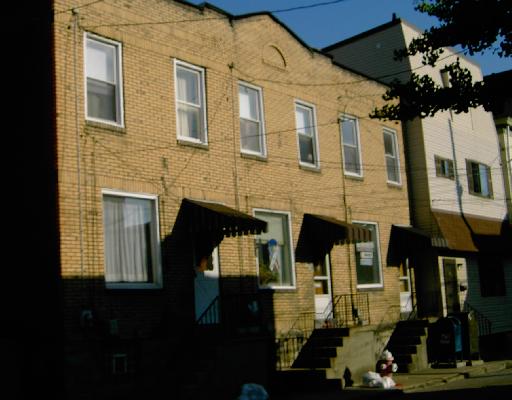
[[[219,203],[184,198],[181,218],[189,233],[242,236],[266,232],[267,223],[251,215]]]

